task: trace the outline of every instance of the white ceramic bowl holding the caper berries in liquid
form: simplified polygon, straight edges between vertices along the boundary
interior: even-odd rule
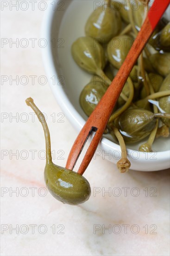
[[[71,124],[79,132],[86,115],[79,105],[82,88],[92,75],[79,68],[72,59],[72,43],[84,34],[84,25],[94,10],[93,0],[48,1],[42,26],[42,38],[47,40],[43,48],[43,60],[50,87],[57,102]],[[74,142],[74,141],[73,141]],[[170,167],[170,141],[158,138],[153,144],[153,152],[139,152],[139,144],[127,145],[131,169],[138,171],[157,171]],[[107,138],[102,138],[98,155],[116,163],[120,157],[120,146]],[[108,155],[107,155],[108,154]]]

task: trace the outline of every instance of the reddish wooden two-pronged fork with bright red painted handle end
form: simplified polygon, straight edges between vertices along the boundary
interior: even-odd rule
[[[148,15],[139,31],[139,34],[136,40],[134,40],[129,53],[126,56],[125,61],[120,67],[106,93],[101,98],[101,101],[94,109],[93,113],[89,116],[87,122],[77,136],[76,141],[70,150],[66,168],[71,170],[74,168],[90,133],[94,131],[95,135],[88,147],[88,150],[86,151],[86,154],[84,155],[82,163],[78,169],[78,173],[82,175],[88,167],[88,164],[90,163],[101,140],[109,117],[113,111],[121,90],[123,89],[126,79],[169,4],[170,0],[155,0],[153,2],[151,9],[149,10]]]

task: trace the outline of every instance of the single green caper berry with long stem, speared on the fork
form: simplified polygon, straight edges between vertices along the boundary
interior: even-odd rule
[[[82,175],[52,162],[50,132],[44,115],[36,107],[32,98],[26,99],[26,104],[34,110],[44,129],[46,147],[44,180],[48,190],[63,203],[77,205],[86,202],[91,194],[89,182]]]

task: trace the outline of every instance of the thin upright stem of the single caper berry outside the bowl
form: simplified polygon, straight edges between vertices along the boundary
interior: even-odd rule
[[[51,157],[51,142],[50,142],[50,132],[49,128],[47,126],[47,123],[45,121],[45,117],[43,113],[37,108],[35,105],[33,99],[27,98],[25,100],[26,104],[32,108],[32,110],[35,112],[35,114],[38,117],[38,120],[41,122],[43,129],[44,129],[44,136],[45,136],[45,148],[46,148],[46,163],[49,164],[52,162],[52,157]]]

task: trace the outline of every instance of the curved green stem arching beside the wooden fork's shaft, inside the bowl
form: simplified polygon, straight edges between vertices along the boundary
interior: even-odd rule
[[[115,111],[109,118],[108,126],[119,116],[121,115],[132,103],[133,95],[134,95],[134,88],[133,83],[130,77],[127,78],[128,85],[129,85],[129,98],[126,103],[117,111]]]

